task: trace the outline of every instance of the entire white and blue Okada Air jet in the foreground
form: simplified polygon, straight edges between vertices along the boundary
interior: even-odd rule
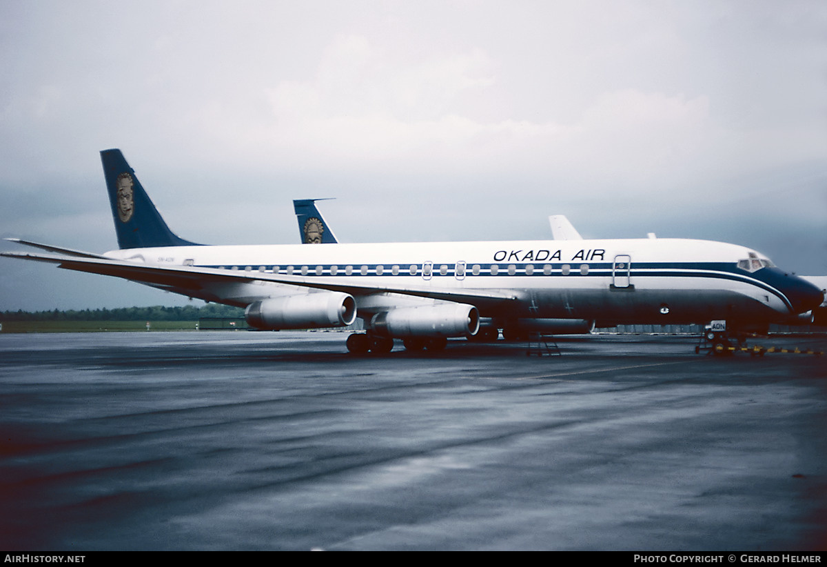
[[[245,307],[257,329],[344,327],[359,317],[366,332],[348,337],[354,353],[388,352],[394,339],[439,349],[449,337],[493,338],[500,328],[506,335],[582,332],[572,327],[595,321],[725,320],[733,333],[800,322],[823,300],[819,288],[762,254],[703,240],[204,246],[170,231],[120,150],[101,158],[118,250],[15,239],[52,253],[2,256]]]

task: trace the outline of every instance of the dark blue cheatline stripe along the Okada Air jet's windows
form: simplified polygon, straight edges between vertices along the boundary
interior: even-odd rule
[[[581,274],[580,267],[586,264],[589,269],[588,272],[584,275]],[[596,264],[591,264],[589,262],[556,262],[554,264],[547,264],[547,263],[532,263],[532,262],[522,262],[522,263],[488,263],[488,264],[479,264],[480,266],[480,273],[475,274],[473,271],[473,267],[477,264],[466,264],[466,269],[463,273],[460,274],[461,277],[465,278],[472,278],[472,277],[484,277],[484,276],[493,276],[493,277],[504,277],[504,276],[520,276],[520,277],[606,277],[611,276],[614,271],[614,265],[611,262],[600,262]],[[514,274],[509,273],[509,266],[514,265],[515,271]],[[533,266],[533,273],[526,274],[525,267],[526,266]],[[544,267],[550,265],[552,267],[551,273],[546,274],[544,271]],[[570,273],[563,275],[562,274],[562,267],[564,265],[568,265],[570,267]],[[289,266],[289,264],[269,264],[264,265],[265,272],[273,272],[274,267],[279,268],[279,274],[287,275],[285,269]],[[351,266],[351,273],[347,274],[346,267]],[[366,266],[367,271],[364,276],[372,276],[372,277],[423,277],[422,272],[422,264],[324,264],[322,265],[321,273],[317,271],[318,264],[314,265],[293,265],[293,271],[291,272],[292,276],[332,276],[332,277],[339,277],[339,276],[363,276],[361,273],[361,267]],[[393,267],[398,266],[399,271],[394,274]],[[411,274],[409,269],[411,266],[417,267],[417,271],[415,274]],[[447,270],[444,274],[440,271],[440,267],[446,266]],[[495,275],[491,274],[491,267],[497,267],[497,273]],[[227,269],[232,270],[235,268],[237,271],[261,271],[261,266],[205,266],[217,269]],[[302,267],[307,267],[307,273],[302,273]],[[331,273],[331,268],[336,267],[336,274]],[[381,267],[382,273],[376,273],[377,267]],[[247,268],[250,268],[249,270]],[[759,271],[760,272],[760,271]],[[758,273],[758,272],[756,272]],[[433,264],[432,270],[430,273],[431,278],[439,278],[439,277],[457,277],[457,272],[455,270],[455,264]],[[767,284],[764,281],[759,280],[758,278],[749,275],[747,272],[744,272],[739,267],[737,267],[732,262],[638,262],[633,263],[633,269],[629,274],[630,277],[633,278],[641,278],[641,277],[696,277],[696,278],[708,278],[708,279],[717,279],[717,280],[729,280],[729,281],[739,281],[741,283],[746,283],[752,286],[756,286],[763,291],[767,291],[771,293],[773,296],[776,296],[778,299],[782,300],[784,305],[787,308],[792,310],[792,304],[789,299],[776,287]]]

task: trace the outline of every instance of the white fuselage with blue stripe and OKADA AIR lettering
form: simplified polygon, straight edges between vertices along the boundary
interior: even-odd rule
[[[815,286],[747,247],[674,238],[181,246],[122,249],[106,256],[260,273],[261,280],[248,283],[215,281],[205,282],[202,290],[173,289],[230,305],[289,295],[294,292],[291,278],[297,283],[353,285],[363,318],[387,305],[422,301],[405,291],[476,293],[479,300],[463,301],[476,305],[483,317],[598,324],[716,319],[767,324],[790,320],[822,300]],[[282,279],[273,281],[275,277]],[[491,300],[482,297],[485,293]],[[513,300],[497,301],[498,296]]]

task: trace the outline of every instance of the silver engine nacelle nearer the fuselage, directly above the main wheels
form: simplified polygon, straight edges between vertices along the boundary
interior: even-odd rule
[[[370,327],[376,334],[398,339],[468,337],[480,329],[480,313],[463,303],[403,307],[377,313]]]

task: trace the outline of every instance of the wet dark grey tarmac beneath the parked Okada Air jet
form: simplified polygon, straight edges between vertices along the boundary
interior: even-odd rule
[[[346,336],[0,334],[0,549],[827,546],[824,356]]]

